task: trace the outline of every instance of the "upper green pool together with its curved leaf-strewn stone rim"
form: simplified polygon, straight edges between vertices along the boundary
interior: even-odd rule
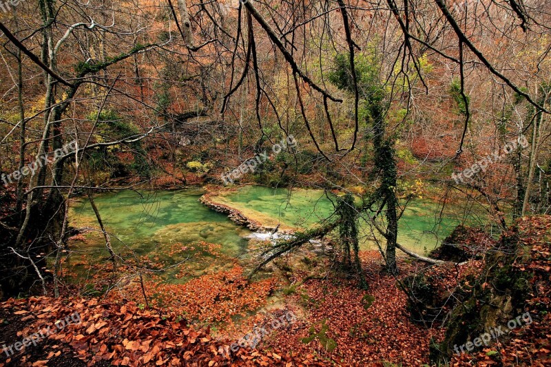
[[[211,209],[225,213],[233,222],[253,231],[293,233],[319,227],[335,212],[335,196],[315,189],[273,189],[257,185],[239,187],[207,187],[201,202]],[[357,205],[360,205],[358,198]],[[481,225],[476,215],[466,216],[459,205],[433,198],[413,198],[401,214],[398,242],[408,250],[427,255],[435,249],[458,224]],[[363,250],[378,249],[371,222],[360,216],[359,239]]]

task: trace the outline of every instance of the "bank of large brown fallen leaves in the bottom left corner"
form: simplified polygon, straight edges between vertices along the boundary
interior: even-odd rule
[[[134,302],[31,297],[10,300],[1,310],[8,344],[45,333],[48,326],[75,312],[81,317],[81,323],[65,326],[36,347],[26,347],[8,359],[4,355],[2,366],[224,366],[230,361],[224,355],[229,346],[214,340],[208,329],[196,331],[174,313],[143,310]],[[6,322],[17,327],[9,328]],[[273,353],[252,356],[240,349],[231,363],[276,366],[286,364],[286,358]]]

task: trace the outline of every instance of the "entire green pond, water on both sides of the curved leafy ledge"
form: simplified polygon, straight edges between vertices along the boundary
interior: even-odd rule
[[[240,258],[247,251],[249,238],[254,237],[251,231],[234,224],[224,214],[202,205],[198,199],[203,193],[125,190],[99,194],[94,201],[116,253],[149,261],[149,266],[154,267],[168,267],[191,259],[186,264],[189,273],[183,277],[176,277],[176,270],[163,272],[169,282],[185,282],[212,266],[230,266],[229,259]],[[330,198],[321,190],[290,192],[246,186],[215,196],[213,200],[231,205],[264,225],[300,229],[312,227],[333,213]],[[413,251],[424,253],[432,250],[463,219],[460,212],[450,208],[441,214],[441,207],[431,200],[413,200],[399,222],[398,239]],[[88,264],[108,257],[105,240],[87,199],[73,202],[70,224],[87,229],[83,237],[71,243],[70,268],[83,275],[88,271]],[[364,223],[360,227],[362,248],[375,249],[368,226]],[[218,255],[212,255],[204,242],[220,244]]]

